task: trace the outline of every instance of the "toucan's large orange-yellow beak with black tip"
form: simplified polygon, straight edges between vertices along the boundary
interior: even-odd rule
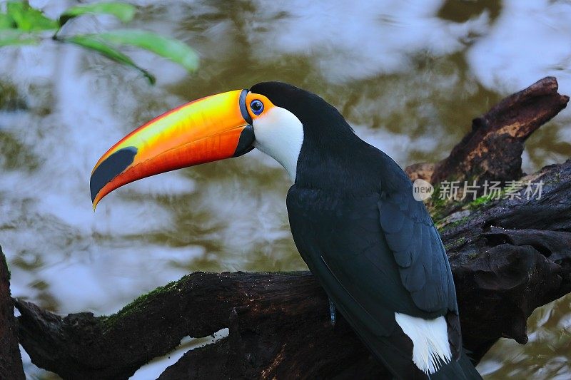
[[[113,145],[91,172],[91,201],[158,173],[237,157],[253,148],[248,90],[186,103],[133,130]]]

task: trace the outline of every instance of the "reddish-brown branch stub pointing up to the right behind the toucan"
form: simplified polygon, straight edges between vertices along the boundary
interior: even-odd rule
[[[567,106],[569,96],[557,93],[557,80],[548,76],[504,98],[472,121],[472,130],[439,163],[411,165],[414,179],[430,183],[453,180],[517,180],[522,176],[525,140]]]

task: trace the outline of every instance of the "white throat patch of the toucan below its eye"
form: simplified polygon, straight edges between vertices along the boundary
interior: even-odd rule
[[[298,157],[303,143],[303,125],[285,108],[273,106],[253,120],[254,146],[281,163],[295,182]]]

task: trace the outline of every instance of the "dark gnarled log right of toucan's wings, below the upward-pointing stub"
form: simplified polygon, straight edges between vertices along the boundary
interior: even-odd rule
[[[460,322],[477,357],[498,337],[525,344],[532,311],[571,292],[571,160],[534,181],[545,184],[539,200],[491,202],[441,232],[450,262],[462,263]]]

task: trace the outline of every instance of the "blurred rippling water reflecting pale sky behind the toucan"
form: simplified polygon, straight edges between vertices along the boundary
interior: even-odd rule
[[[71,1],[31,3],[56,16]],[[55,312],[108,314],[197,270],[305,269],[285,211],[288,178],[259,152],[138,181],[91,211],[89,175],[99,156],[180,103],[286,81],[323,96],[404,167],[444,158],[473,117],[543,76],[557,76],[560,92],[571,93],[570,1],[136,4],[133,27],[196,48],[196,75],[132,51],[156,74],[148,86],[73,46],[0,49],[0,244],[14,296]],[[65,32],[120,27],[87,16]],[[526,171],[571,156],[570,112],[530,138]],[[570,300],[537,310],[530,343],[500,342],[480,371],[489,379],[568,379]],[[46,376],[29,361],[26,370]]]

